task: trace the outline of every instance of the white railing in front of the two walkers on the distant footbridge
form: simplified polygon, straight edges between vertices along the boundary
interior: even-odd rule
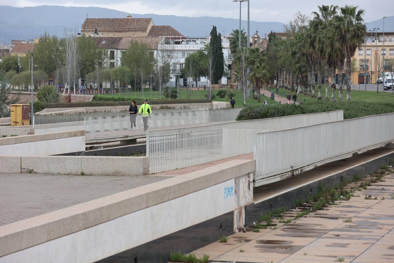
[[[154,112],[145,118],[142,114],[85,117],[85,139],[89,141],[140,136],[145,135],[147,130],[179,126],[190,127],[210,123],[212,120],[220,121],[220,118],[223,118],[224,121],[229,119],[234,121],[239,112],[239,109],[207,109],[167,113]]]

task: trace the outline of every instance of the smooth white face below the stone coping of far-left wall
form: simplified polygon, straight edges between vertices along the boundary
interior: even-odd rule
[[[85,151],[85,136],[0,145],[1,156],[47,156]]]

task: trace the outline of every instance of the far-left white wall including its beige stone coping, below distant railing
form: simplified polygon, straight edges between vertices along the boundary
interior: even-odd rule
[[[85,151],[85,131],[0,138],[0,156],[47,156]]]

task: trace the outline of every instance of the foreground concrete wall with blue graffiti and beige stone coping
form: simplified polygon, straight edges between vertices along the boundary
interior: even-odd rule
[[[0,226],[0,262],[112,256],[245,207],[254,169],[254,160],[234,160]]]

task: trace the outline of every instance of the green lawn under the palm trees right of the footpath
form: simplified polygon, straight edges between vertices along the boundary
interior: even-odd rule
[[[270,88],[269,90],[275,91],[275,88]],[[286,97],[287,93],[289,90],[286,89],[279,89],[279,95],[282,95],[284,93],[284,97]],[[331,87],[328,90],[328,98],[329,101],[331,101]],[[292,92],[290,94],[293,95]],[[318,95],[318,87],[316,86],[316,96]],[[339,91],[338,89],[336,90],[336,101],[339,101]],[[343,95],[343,101],[346,101],[346,89],[343,90],[342,92]],[[311,100],[317,100],[317,98],[312,98],[311,96],[308,97],[308,95],[304,95],[303,93],[297,94],[297,97],[299,100],[303,101],[311,101]],[[322,97],[323,99],[325,98],[325,85],[322,85]],[[376,93],[376,91],[359,91],[359,90],[351,90],[350,91],[350,99],[351,101],[366,101],[366,102],[384,102],[384,103],[394,103],[394,95],[391,92],[383,92],[379,91],[379,93]]]

